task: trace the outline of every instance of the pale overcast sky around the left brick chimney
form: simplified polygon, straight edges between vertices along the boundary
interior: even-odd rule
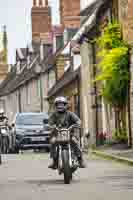
[[[52,6],[53,24],[59,23],[58,0],[49,0]],[[0,32],[7,26],[8,62],[15,62],[16,48],[24,48],[31,42],[32,0],[0,0]]]

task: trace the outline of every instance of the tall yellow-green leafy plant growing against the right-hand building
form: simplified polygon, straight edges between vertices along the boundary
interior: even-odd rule
[[[122,119],[122,112],[127,103],[128,97],[128,45],[122,40],[121,27],[118,23],[108,24],[97,40],[100,53],[98,57],[99,73],[95,81],[102,82],[101,94],[116,111],[117,128],[125,128],[125,119]]]

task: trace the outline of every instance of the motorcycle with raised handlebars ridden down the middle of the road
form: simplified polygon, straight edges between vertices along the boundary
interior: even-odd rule
[[[73,128],[79,128],[72,125],[68,129],[54,127],[57,131],[55,137],[57,170],[59,175],[64,174],[64,183],[70,184],[73,173],[78,169],[78,159],[71,148],[71,131]]]

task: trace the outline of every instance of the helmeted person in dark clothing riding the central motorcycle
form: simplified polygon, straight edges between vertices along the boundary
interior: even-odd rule
[[[57,127],[61,125],[63,128],[69,128],[71,125],[75,124],[80,126],[81,120],[79,117],[73,113],[68,111],[68,101],[65,97],[57,97],[54,101],[55,105],[55,112],[50,116],[49,118],[49,125]],[[55,139],[55,130],[52,131],[51,135],[51,141]],[[73,135],[75,137],[74,140],[71,140],[71,145],[74,150],[75,155],[78,158],[79,161],[79,167],[85,168],[85,164],[83,161],[83,155],[82,151],[79,146],[79,137],[78,132],[74,131]],[[78,138],[78,140],[77,140]],[[53,163],[49,165],[49,168],[56,169],[57,167],[57,159],[56,159],[56,144],[54,142],[51,142],[51,158],[53,159]]]

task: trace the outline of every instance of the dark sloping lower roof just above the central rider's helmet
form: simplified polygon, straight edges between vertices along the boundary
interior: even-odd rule
[[[62,78],[58,80],[57,83],[48,92],[48,98],[56,95],[62,88],[70,84],[79,76],[80,76],[80,69],[76,71],[68,70],[67,72],[65,72]]]

